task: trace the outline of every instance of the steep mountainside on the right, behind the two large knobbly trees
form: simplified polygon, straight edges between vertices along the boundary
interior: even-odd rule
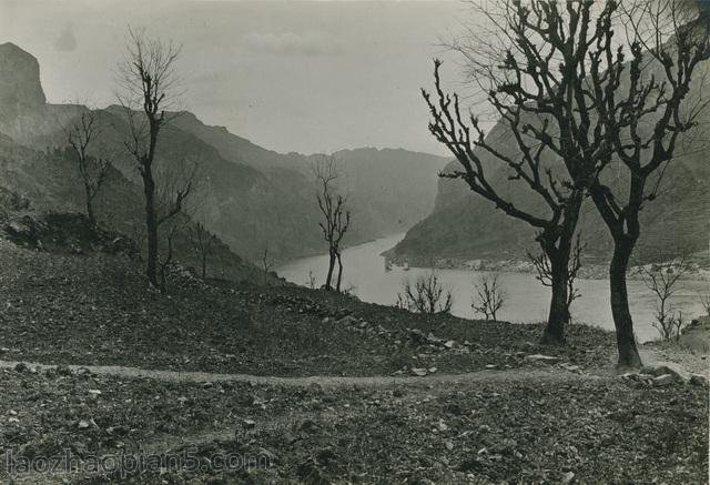
[[[689,108],[703,99],[707,85],[702,80],[710,74],[709,63],[703,63],[696,78],[698,82],[691,85]],[[641,211],[641,238],[635,253],[638,262],[657,261],[680,252],[702,252],[707,256],[710,233],[709,111],[706,110],[697,120],[697,127],[682,137],[676,159],[663,173],[658,198]],[[487,137],[497,150],[515,155],[515,146],[506,142],[510,134],[501,123],[496,124]],[[499,188],[505,196],[524,209],[538,213],[545,210],[544,203],[524,182],[509,180],[510,173],[500,164],[494,164],[490,155],[480,151],[479,155],[494,169],[490,172],[493,185]],[[552,170],[560,170],[560,166],[559,160],[551,162]],[[458,162],[449,162],[445,171],[454,168],[459,169]],[[618,193],[625,193],[627,171],[610,166],[606,178]],[[650,180],[649,185],[652,183]],[[591,201],[586,201],[582,206],[579,230],[588,243],[586,256],[607,261],[612,241]],[[470,191],[464,181],[442,179],[434,211],[415,224],[388,255],[395,261],[415,264],[426,265],[440,260],[449,260],[450,264],[474,259],[525,259],[526,249],[539,251],[530,225],[505,215],[493,203]]]

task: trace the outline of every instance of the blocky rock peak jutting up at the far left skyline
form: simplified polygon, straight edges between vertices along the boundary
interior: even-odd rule
[[[11,42],[0,44],[0,118],[11,119],[45,102],[40,64]]]

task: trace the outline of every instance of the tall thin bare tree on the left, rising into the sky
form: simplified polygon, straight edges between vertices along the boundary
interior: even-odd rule
[[[159,286],[159,226],[182,210],[191,185],[175,193],[169,208],[159,215],[156,183],[153,173],[158,141],[170,121],[166,111],[174,107],[176,74],[175,61],[180,48],[172,42],[150,39],[142,31],[129,29],[125,60],[119,65],[122,92],[119,102],[125,110],[129,139],[125,146],[136,162],[143,181],[145,198],[145,234],[148,256],[145,273],[150,284]],[[138,109],[138,111],[136,111]],[[166,202],[166,201],[164,201]]]

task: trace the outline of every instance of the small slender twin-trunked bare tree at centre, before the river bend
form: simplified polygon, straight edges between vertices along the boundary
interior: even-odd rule
[[[317,184],[316,200],[322,215],[318,225],[328,244],[328,272],[325,279],[325,289],[333,289],[333,271],[337,261],[338,273],[335,291],[339,292],[343,281],[341,243],[351,224],[351,211],[345,209],[346,199],[335,192],[339,176],[335,158],[323,155],[313,166],[313,173]]]

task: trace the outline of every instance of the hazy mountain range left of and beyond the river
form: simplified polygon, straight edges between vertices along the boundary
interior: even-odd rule
[[[49,153],[65,145],[62,127],[87,108],[47,103],[37,59],[12,43],[0,44],[0,67],[7,67],[0,70],[0,97],[9,100],[9,108],[0,112],[0,132],[37,152]],[[125,181],[139,186],[135,164],[123,146],[129,133],[126,114],[116,105],[95,111],[100,127],[95,146]],[[343,186],[353,212],[347,244],[402,232],[430,212],[436,174],[445,159],[387,149],[347,150],[334,155],[345,173]],[[200,210],[192,216],[234,252],[251,261],[266,246],[277,261],[323,252],[311,173],[317,155],[270,151],[185,112],[161,133],[156,171],[186,158],[199,161],[203,179]],[[68,171],[61,176],[73,174]],[[9,189],[36,191],[23,184]],[[108,214],[99,218],[114,222]]]

